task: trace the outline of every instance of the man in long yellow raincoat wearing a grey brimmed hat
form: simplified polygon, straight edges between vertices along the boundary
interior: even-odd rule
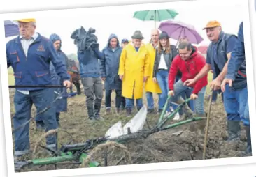
[[[122,49],[118,75],[122,80],[122,96],[125,97],[127,116],[131,116],[133,102],[139,111],[143,107],[143,82],[146,82],[149,73],[150,58],[148,49],[142,45],[141,31],[135,31],[131,36],[132,42]]]

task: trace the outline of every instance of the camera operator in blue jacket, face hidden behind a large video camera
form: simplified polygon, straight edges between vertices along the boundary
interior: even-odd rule
[[[86,95],[86,106],[89,119],[99,120],[101,100],[103,97],[103,86],[99,70],[99,60],[103,55],[99,51],[95,30],[90,28],[85,31],[83,27],[76,29],[71,34],[78,47],[78,61],[80,66],[80,77]]]

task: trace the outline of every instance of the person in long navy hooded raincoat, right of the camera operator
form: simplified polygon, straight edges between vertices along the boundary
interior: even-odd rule
[[[122,97],[122,80],[118,76],[118,68],[122,48],[118,36],[111,34],[107,46],[102,50],[103,59],[100,61],[101,79],[105,82],[106,113],[111,111],[111,93],[115,90],[115,108],[120,112]]]

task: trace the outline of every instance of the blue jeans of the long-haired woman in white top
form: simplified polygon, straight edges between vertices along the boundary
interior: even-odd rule
[[[168,70],[159,70],[157,72],[157,82],[162,90],[162,93],[159,93],[159,107],[158,109],[164,109],[165,102],[168,97],[168,91],[169,91],[169,86],[168,86],[168,75],[169,72]],[[170,109],[170,104],[168,103],[166,111],[171,111]]]

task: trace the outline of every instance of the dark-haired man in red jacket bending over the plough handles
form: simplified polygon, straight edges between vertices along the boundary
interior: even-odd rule
[[[192,89],[190,98],[195,100],[195,111],[197,116],[206,116],[204,113],[204,93],[208,84],[207,75],[199,79],[195,84],[188,87],[183,83],[187,79],[193,79],[206,64],[204,56],[198,53],[197,47],[192,46],[191,43],[183,42],[178,45],[179,54],[173,59],[171,68],[169,70],[169,95],[171,95],[171,101],[181,104],[184,102],[181,98],[180,93],[187,89]],[[181,79],[175,82],[175,78],[178,70],[182,73]],[[185,114],[192,116],[192,110],[185,105]]]

